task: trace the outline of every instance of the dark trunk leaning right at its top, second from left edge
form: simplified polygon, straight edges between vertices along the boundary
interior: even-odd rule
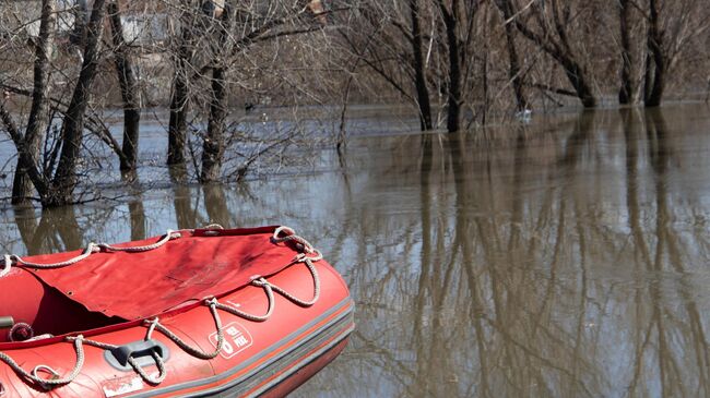
[[[71,203],[76,185],[76,160],[84,132],[84,112],[91,97],[91,85],[96,76],[105,13],[105,0],[95,0],[88,21],[84,62],[79,81],[62,123],[61,156],[51,183],[51,191],[43,197],[43,205],[61,206]]]

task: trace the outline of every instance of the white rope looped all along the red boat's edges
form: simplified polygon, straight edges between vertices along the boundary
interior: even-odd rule
[[[222,229],[222,227],[218,226],[218,225],[210,225],[210,226],[208,226],[205,228],[208,228],[208,229],[215,229],[215,228]],[[282,237],[281,236],[282,233],[286,233],[286,234]],[[73,263],[76,263],[76,262],[85,258],[86,256],[88,256],[88,254],[91,254],[93,252],[93,248],[100,248],[100,249],[104,249],[104,250],[111,250],[111,251],[119,251],[119,250],[120,251],[149,251],[149,250],[157,249],[161,245],[165,244],[170,239],[176,239],[176,238],[179,238],[179,237],[180,237],[179,233],[176,233],[176,232],[173,232],[173,231],[168,230],[167,233],[165,234],[165,237],[163,239],[161,239],[161,241],[158,241],[158,242],[156,242],[154,244],[151,244],[151,245],[133,246],[133,248],[113,248],[113,246],[110,246],[108,244],[103,244],[103,243],[99,243],[99,244],[90,243],[88,248],[86,249],[84,254],[81,255],[81,256],[84,256],[84,257],[79,258],[79,260],[76,260],[78,257],[74,257],[74,258],[72,258],[70,261],[67,261],[64,263],[69,263],[69,262],[72,262],[72,261],[73,261]],[[321,252],[318,251],[317,249],[315,249],[304,238],[301,238],[299,236],[296,236],[294,230],[288,228],[288,227],[279,227],[279,228],[276,228],[276,230],[274,231],[271,240],[274,243],[293,241],[293,242],[295,242],[297,244],[297,249],[299,251],[301,251],[301,253],[298,253],[296,255],[296,257],[294,258],[294,264],[299,264],[300,263],[300,264],[304,264],[308,268],[308,270],[309,270],[309,273],[310,273],[310,275],[311,275],[311,277],[313,279],[313,297],[312,297],[312,299],[310,299],[308,301],[298,299],[297,297],[295,297],[292,293],[287,292],[283,288],[279,287],[279,286],[276,286],[274,284],[271,284],[265,278],[263,278],[263,277],[255,277],[255,279],[252,279],[252,281],[251,281],[251,285],[255,286],[255,287],[262,288],[265,296],[267,296],[267,299],[268,299],[268,309],[267,309],[267,313],[264,315],[255,315],[255,314],[244,312],[241,310],[238,310],[235,306],[223,304],[223,303],[218,302],[216,298],[211,298],[211,299],[206,299],[206,300],[203,301],[203,304],[210,307],[210,313],[212,314],[212,318],[214,321],[214,326],[216,328],[217,342],[216,342],[216,347],[215,347],[214,351],[205,352],[205,351],[201,350],[200,348],[191,347],[189,343],[187,343],[185,340],[182,340],[179,336],[177,336],[170,329],[168,329],[165,325],[163,325],[159,322],[158,317],[154,317],[152,319],[145,319],[143,322],[143,326],[147,327],[147,330],[145,333],[145,340],[152,339],[153,333],[155,330],[158,330],[159,333],[165,335],[167,338],[173,340],[173,342],[175,342],[179,348],[181,348],[185,352],[189,353],[190,355],[196,357],[198,359],[202,359],[202,360],[211,360],[211,359],[216,358],[222,352],[222,350],[223,350],[223,348],[225,346],[224,345],[224,342],[225,342],[224,330],[222,329],[222,318],[220,317],[220,313],[218,313],[217,310],[225,311],[227,313],[230,313],[233,315],[242,317],[242,318],[248,319],[248,321],[264,322],[264,321],[269,319],[271,317],[271,315],[273,314],[273,310],[274,310],[274,306],[275,306],[274,292],[277,292],[279,294],[283,296],[288,301],[291,301],[291,302],[293,302],[293,303],[295,303],[295,304],[297,304],[299,306],[308,307],[308,306],[313,305],[318,301],[318,299],[320,298],[320,277],[318,276],[318,270],[316,269],[316,266],[313,265],[313,263],[322,260],[323,256],[322,256]],[[85,254],[85,253],[88,253],[88,254]],[[79,256],[79,257],[81,257],[81,256]],[[5,256],[5,258],[7,257],[8,256]],[[73,264],[73,263],[71,263],[71,264]],[[8,263],[7,263],[7,260],[5,260],[5,266],[7,266],[7,264]],[[29,263],[24,263],[24,262],[21,263],[21,264],[29,265]],[[66,264],[66,265],[70,265],[70,264]],[[35,266],[35,265],[31,265],[31,266]],[[47,264],[44,264],[44,266],[47,266]],[[0,272],[0,277],[4,276],[5,274],[7,274],[7,272],[4,272],[4,270]],[[5,354],[3,352],[0,352],[0,360],[2,360],[8,365],[10,365],[10,367],[12,367],[17,374],[20,374],[24,378],[29,379],[29,381],[32,381],[32,382],[34,382],[34,383],[49,389],[49,388],[51,388],[54,386],[69,384],[74,378],[76,378],[76,376],[81,372],[81,369],[82,369],[82,366],[84,364],[83,343],[85,343],[87,346],[96,347],[96,348],[99,348],[99,349],[103,349],[103,350],[114,350],[114,349],[117,349],[119,347],[119,346],[107,343],[107,342],[86,339],[82,335],[69,336],[69,337],[66,338],[66,340],[74,342],[74,348],[75,348],[75,351],[76,351],[76,364],[74,366],[74,370],[72,370],[72,372],[64,378],[60,378],[59,373],[56,372],[54,369],[51,369],[51,367],[49,367],[47,365],[42,365],[42,364],[35,366],[35,369],[33,370],[32,373],[28,373],[24,369],[22,369],[12,358],[10,358],[8,354]],[[132,357],[128,358],[128,363],[131,365],[131,367],[133,367],[133,370],[146,383],[149,383],[151,385],[158,385],[165,379],[165,377],[167,375],[167,371],[166,371],[166,367],[165,367],[165,361],[156,352],[151,352],[151,355],[153,357],[153,360],[155,361],[155,365],[157,366],[157,370],[158,370],[157,376],[149,375],[145,372],[145,370]],[[45,378],[39,377],[37,373],[40,372],[40,371],[44,371],[46,373],[51,374],[54,378],[45,379]],[[0,396],[2,394],[0,391]]]

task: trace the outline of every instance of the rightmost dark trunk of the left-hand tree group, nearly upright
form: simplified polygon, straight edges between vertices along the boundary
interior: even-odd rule
[[[208,134],[202,142],[202,170],[201,182],[211,182],[220,179],[222,158],[224,156],[224,130],[227,116],[227,67],[222,59],[227,53],[226,46],[232,29],[233,11],[235,7],[228,1],[224,4],[220,21],[220,33],[215,39],[214,55],[215,68],[212,70],[212,98],[210,99],[210,120]]]

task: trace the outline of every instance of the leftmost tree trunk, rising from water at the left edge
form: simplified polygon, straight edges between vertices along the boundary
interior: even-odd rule
[[[49,123],[47,94],[49,91],[49,62],[57,22],[56,0],[43,0],[39,36],[35,43],[34,88],[32,92],[32,109],[27,121],[24,142],[27,153],[20,153],[17,167],[12,183],[12,204],[27,204],[32,196],[33,185],[27,174],[27,168],[36,168],[39,158],[39,144]]]

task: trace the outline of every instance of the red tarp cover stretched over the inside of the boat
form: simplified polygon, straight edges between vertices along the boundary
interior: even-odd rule
[[[63,268],[27,269],[91,311],[142,318],[226,293],[249,284],[253,276],[273,275],[292,264],[297,252],[288,244],[271,242],[275,228],[220,230],[217,237],[205,236],[205,230],[184,230],[181,238],[151,251],[100,252]],[[115,246],[152,244],[159,239]],[[81,252],[24,260],[57,263]]]

